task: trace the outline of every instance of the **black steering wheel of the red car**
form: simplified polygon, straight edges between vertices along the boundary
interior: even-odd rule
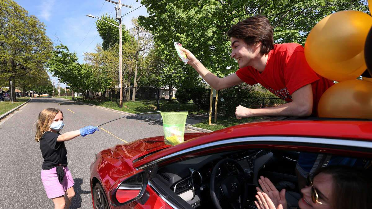
[[[224,177],[217,178],[219,167],[225,163],[235,164],[238,174],[234,174],[234,171],[232,171]],[[211,193],[212,202],[216,208],[222,209],[219,204],[219,199],[225,197],[232,208],[243,209],[247,200],[248,185],[241,165],[230,158],[218,161],[211,173],[209,192]]]

